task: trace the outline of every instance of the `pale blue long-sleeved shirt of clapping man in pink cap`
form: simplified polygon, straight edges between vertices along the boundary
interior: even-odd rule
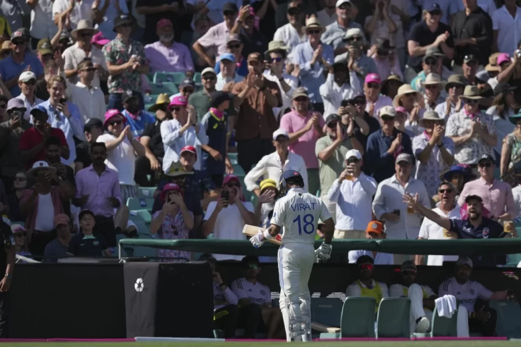
[[[194,164],[194,170],[201,170],[201,145],[208,144],[208,136],[206,130],[201,123],[199,124],[199,132],[195,132],[195,127],[188,128],[187,131],[180,134],[183,125],[177,119],[170,119],[161,123],[161,138],[165,147],[165,156],[163,157],[163,171],[168,172],[172,163],[179,162],[179,152],[184,146],[194,146],[197,151],[197,160]]]

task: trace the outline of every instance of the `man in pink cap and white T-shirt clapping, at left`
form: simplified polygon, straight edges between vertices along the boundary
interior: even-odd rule
[[[96,142],[105,142],[106,164],[118,173],[121,201],[126,202],[129,197],[136,197],[138,194],[134,181],[135,158],[145,155],[145,147],[134,137],[130,126],[125,125],[126,117],[117,109],[109,109],[103,123],[108,133],[98,137]],[[110,244],[110,240],[107,241]]]

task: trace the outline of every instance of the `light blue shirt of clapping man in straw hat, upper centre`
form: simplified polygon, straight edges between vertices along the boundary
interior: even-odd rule
[[[291,55],[293,56],[293,63],[300,66],[300,81],[303,87],[309,93],[309,100],[311,103],[318,104],[322,102],[318,89],[324,83],[324,69],[326,68],[321,62],[316,62],[313,66],[310,61],[313,58],[314,49],[309,42],[303,42],[293,48]],[[333,65],[334,53],[333,47],[322,43],[322,58],[326,59],[328,64]]]

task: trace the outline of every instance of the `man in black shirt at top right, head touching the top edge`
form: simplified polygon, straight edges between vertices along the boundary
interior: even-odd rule
[[[465,0],[465,9],[459,11],[452,21],[454,33],[454,72],[461,73],[463,59],[468,55],[478,58],[481,69],[487,65],[492,51],[492,20],[477,0]],[[510,53],[510,52],[507,52]]]

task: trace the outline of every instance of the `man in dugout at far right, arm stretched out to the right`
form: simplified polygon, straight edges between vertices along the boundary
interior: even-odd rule
[[[483,284],[469,280],[472,274],[473,261],[469,257],[462,257],[456,262],[455,276],[440,284],[438,295],[454,295],[460,306],[468,311],[469,332],[479,332],[483,336],[494,336],[497,322],[497,312],[490,308],[489,300],[517,301],[511,289],[492,292]],[[477,300],[480,299],[480,300]]]

